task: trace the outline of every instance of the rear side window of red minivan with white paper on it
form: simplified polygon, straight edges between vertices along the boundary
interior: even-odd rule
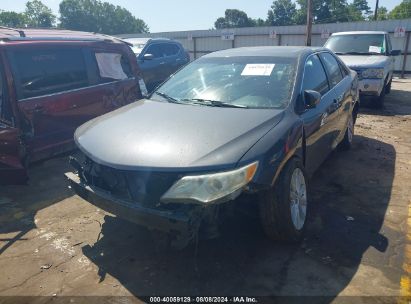
[[[100,83],[122,80],[133,76],[130,62],[120,53],[95,53]]]

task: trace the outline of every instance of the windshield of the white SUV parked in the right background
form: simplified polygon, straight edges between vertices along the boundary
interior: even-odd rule
[[[384,54],[383,34],[352,34],[331,36],[325,44],[336,54]]]

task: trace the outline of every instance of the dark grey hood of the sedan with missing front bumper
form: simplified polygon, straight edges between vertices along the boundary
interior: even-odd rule
[[[85,123],[74,137],[92,160],[117,169],[233,167],[282,116],[141,100]]]

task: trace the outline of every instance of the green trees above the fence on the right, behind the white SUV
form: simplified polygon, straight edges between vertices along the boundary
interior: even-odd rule
[[[374,20],[374,12],[367,0],[312,0],[313,23],[336,23]],[[411,0],[403,0],[388,11],[380,6],[377,20],[411,18]],[[253,26],[283,26],[306,24],[307,0],[275,0],[267,13],[266,19],[253,19],[247,13],[237,9],[227,9],[224,17],[214,22],[216,29]]]

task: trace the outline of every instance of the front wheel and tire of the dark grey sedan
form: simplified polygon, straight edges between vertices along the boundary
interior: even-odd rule
[[[260,199],[263,229],[272,240],[299,241],[307,220],[307,177],[301,160],[292,158],[275,186]]]

